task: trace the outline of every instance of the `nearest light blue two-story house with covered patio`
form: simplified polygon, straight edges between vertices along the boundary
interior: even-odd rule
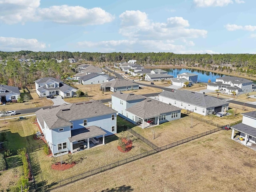
[[[36,112],[37,122],[54,156],[104,144],[104,137],[116,133],[116,111],[104,104],[89,102],[62,104]]]

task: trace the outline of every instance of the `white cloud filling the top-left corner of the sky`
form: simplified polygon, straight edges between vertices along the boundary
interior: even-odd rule
[[[0,0],[0,21],[15,24],[36,20],[36,8],[40,0]]]

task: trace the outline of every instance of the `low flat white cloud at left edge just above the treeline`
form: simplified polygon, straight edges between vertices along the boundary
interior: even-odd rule
[[[40,51],[46,48],[46,44],[38,42],[37,39],[23,39],[14,37],[0,37],[0,50],[20,51],[32,50]]]

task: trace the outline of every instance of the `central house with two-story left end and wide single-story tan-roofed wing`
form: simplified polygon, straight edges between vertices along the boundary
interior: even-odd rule
[[[134,124],[161,124],[180,118],[180,108],[133,93],[112,94],[112,108]]]

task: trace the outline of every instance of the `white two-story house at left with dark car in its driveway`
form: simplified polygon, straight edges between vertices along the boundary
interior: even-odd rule
[[[44,77],[35,81],[36,93],[39,97],[60,95],[63,98],[76,96],[77,89],[52,77]]]

